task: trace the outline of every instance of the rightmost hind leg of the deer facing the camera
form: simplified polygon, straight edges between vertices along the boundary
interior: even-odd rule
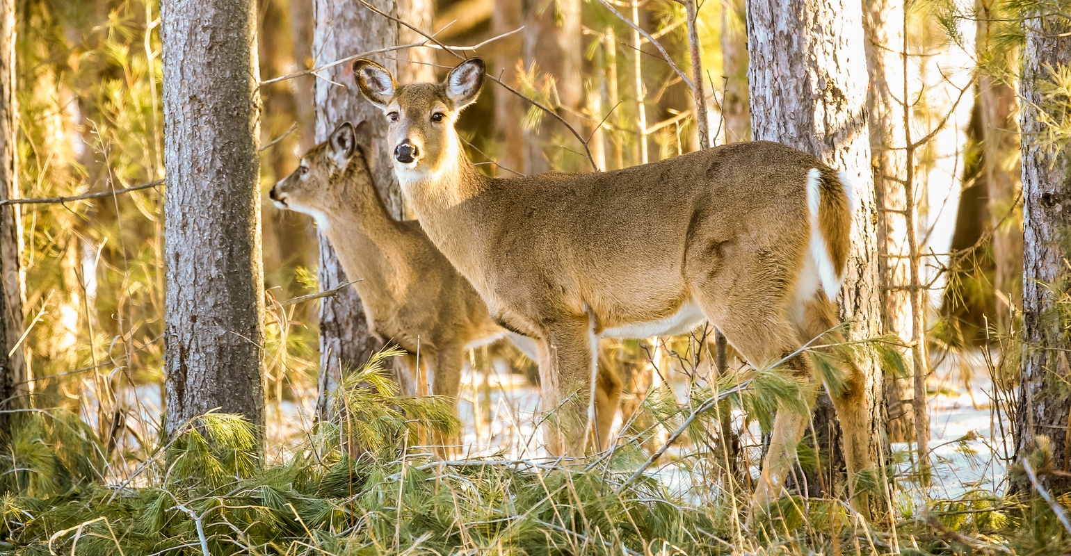
[[[833,344],[844,342],[844,335],[840,330],[827,332],[839,324],[836,318],[836,306],[826,298],[824,292],[818,292],[803,306],[803,321],[798,324],[800,340],[810,342],[814,337],[825,334],[819,344]],[[838,366],[844,371],[844,391],[834,395],[830,385],[825,385],[826,390],[833,401],[833,409],[836,411],[836,420],[841,424],[841,432],[844,438],[844,463],[848,470],[848,496],[853,508],[859,513],[870,516],[870,500],[864,494],[856,490],[856,479],[859,472],[873,467],[873,460],[870,452],[870,422],[866,403],[866,373],[859,367],[847,352],[835,354],[833,360]]]

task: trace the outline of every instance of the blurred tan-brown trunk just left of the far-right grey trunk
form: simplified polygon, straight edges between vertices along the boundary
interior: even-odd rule
[[[995,48],[1000,46],[990,46],[991,34],[999,25],[995,21],[999,14],[993,14],[993,3],[994,0],[980,0],[978,3],[976,50],[979,57],[987,52],[990,59],[999,63],[1002,70],[1008,70],[1014,64],[1015,52],[1011,49],[997,52]],[[1012,309],[1022,305],[1023,297],[1023,225],[1017,214],[1009,214],[1022,191],[1022,170],[1016,156],[1019,130],[1015,112],[1019,102],[1010,85],[981,72],[978,76],[978,104],[982,118],[982,169],[989,186],[993,258],[996,261],[993,286],[997,295],[997,314],[993,324],[1009,331]]]

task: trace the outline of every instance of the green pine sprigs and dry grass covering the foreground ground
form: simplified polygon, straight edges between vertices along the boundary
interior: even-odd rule
[[[728,401],[761,414],[771,399],[804,393],[806,385],[776,371],[753,372],[735,388],[696,388],[684,404],[652,393],[647,409],[660,426],[681,431],[687,450],[672,469],[652,465],[637,474],[653,463],[644,449],[649,430],[579,461],[436,457],[417,439],[428,430],[456,434],[457,418],[442,400],[398,396],[382,369],[392,355],[348,375],[335,397],[340,418],[317,423],[290,456],[267,466],[257,431],[232,415],[210,412],[169,438],[161,435],[120,477],[77,415],[17,414],[0,455],[0,553],[653,556],[1071,547],[1049,505],[983,491],[921,511],[878,511],[871,522],[841,500],[790,496],[749,522],[746,492],[720,475],[715,446],[704,440],[716,422],[707,409]],[[888,485],[873,479],[866,486],[911,487],[894,475],[890,466],[874,474],[893,477]],[[692,486],[681,487],[689,480]]]

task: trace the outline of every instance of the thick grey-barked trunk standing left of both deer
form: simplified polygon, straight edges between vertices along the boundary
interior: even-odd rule
[[[167,426],[265,424],[256,9],[163,3]]]

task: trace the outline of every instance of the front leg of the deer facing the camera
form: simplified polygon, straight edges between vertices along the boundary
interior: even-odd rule
[[[546,420],[544,440],[552,455],[584,455],[591,432],[593,358],[597,343],[587,315],[544,325],[539,374]]]

